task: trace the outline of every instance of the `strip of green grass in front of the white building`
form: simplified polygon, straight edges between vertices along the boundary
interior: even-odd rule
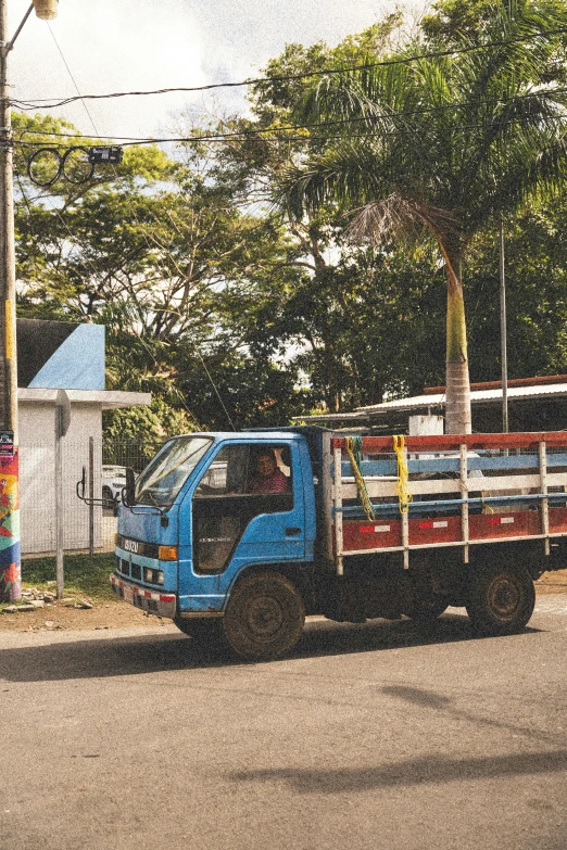
[[[63,561],[63,588],[65,596],[88,596],[93,602],[105,602],[115,596],[109,581],[114,570],[114,555],[65,555]],[[22,561],[22,586],[54,593],[55,559],[34,558]]]

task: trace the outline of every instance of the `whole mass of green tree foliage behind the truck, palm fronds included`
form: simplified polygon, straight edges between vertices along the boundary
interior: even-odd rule
[[[79,140],[64,120],[15,115],[18,315],[105,325],[109,389],[153,395],[104,414],[115,446],[285,424],[443,383],[438,245],[463,261],[471,377],[497,378],[504,213],[511,377],[567,371],[564,37],[536,35],[566,20],[564,0],[439,0],[401,48],[399,11],[336,47],[288,45],[249,116],[187,127],[248,137],[180,144],[175,160],[133,145],[84,186],[30,185],[21,143]],[[301,76],[496,38],[513,43]],[[344,214],[361,206],[356,231]],[[377,231],[379,246],[361,242]]]

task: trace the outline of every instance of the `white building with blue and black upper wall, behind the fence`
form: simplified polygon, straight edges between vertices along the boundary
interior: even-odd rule
[[[17,320],[20,506],[22,554],[55,548],[55,413],[59,390],[71,403],[61,439],[65,549],[112,544],[115,521],[102,507],[89,508],[76,493],[85,467],[102,496],[102,411],[149,405],[149,393],[104,389],[104,327],[92,323]],[[87,481],[88,493],[88,481]],[[106,513],[109,511],[105,511]],[[111,538],[109,541],[109,537]]]

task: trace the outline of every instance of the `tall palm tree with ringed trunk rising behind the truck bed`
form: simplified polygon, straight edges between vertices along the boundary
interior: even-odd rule
[[[319,124],[317,139],[286,173],[278,203],[295,218],[335,204],[352,214],[357,240],[425,228],[437,241],[448,279],[448,433],[470,433],[462,282],[470,241],[534,190],[557,188],[566,170],[567,89],[541,78],[565,24],[511,0],[494,9],[491,47],[463,41],[451,56],[415,60],[424,47],[413,43],[394,62],[323,77],[298,109],[301,122]]]

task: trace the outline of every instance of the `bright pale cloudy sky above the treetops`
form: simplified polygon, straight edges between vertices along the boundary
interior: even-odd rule
[[[8,0],[9,34],[30,0]],[[336,45],[393,11],[395,0],[60,0],[52,22],[35,13],[9,60],[14,99],[36,101],[239,81],[286,43]],[[243,89],[217,90],[215,111],[244,107]],[[86,101],[51,110],[89,136],[175,134],[200,93]],[[35,111],[34,111],[35,112]]]

